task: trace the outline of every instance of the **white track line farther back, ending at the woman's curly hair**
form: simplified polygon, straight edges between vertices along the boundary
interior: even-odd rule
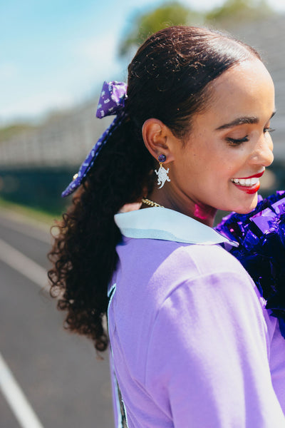
[[[27,277],[28,280],[34,282],[41,289],[43,289],[48,281],[46,269],[1,239],[0,260],[20,272],[21,275]]]

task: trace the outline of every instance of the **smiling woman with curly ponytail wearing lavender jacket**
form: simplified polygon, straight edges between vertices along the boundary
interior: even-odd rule
[[[104,88],[98,116],[115,121],[63,192],[83,183],[51,253],[67,327],[105,350],[108,310],[116,427],[285,427],[278,322],[212,229],[218,209],[257,205],[271,77],[251,47],[179,26],[128,71],[128,97]]]

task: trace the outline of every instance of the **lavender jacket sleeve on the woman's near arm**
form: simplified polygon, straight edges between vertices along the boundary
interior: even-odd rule
[[[145,385],[174,427],[285,427],[246,272],[204,275],[172,291],[152,328]]]

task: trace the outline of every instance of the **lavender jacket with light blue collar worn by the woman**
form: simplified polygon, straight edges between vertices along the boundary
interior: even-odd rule
[[[227,238],[166,208],[115,222],[115,427],[118,380],[129,428],[285,428],[285,340]]]

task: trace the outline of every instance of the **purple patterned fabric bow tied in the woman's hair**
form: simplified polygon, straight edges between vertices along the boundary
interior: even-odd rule
[[[101,148],[105,146],[105,143],[107,143],[108,138],[112,135],[115,129],[120,126],[120,123],[122,123],[123,119],[126,116],[124,108],[125,98],[127,98],[126,92],[126,83],[116,81],[103,83],[96,117],[103,118],[105,116],[112,115],[116,115],[116,117],[110,124],[110,126],[106,129],[106,131],[102,134],[102,136],[100,136],[97,143],[94,144],[90,153],[86,157],[86,160],[81,164],[78,173],[74,175],[73,181],[71,181],[66,190],[61,193],[62,198],[71,195],[71,193],[73,193],[74,190],[76,190],[81,185],[90,168],[92,168],[95,158],[97,158]]]

